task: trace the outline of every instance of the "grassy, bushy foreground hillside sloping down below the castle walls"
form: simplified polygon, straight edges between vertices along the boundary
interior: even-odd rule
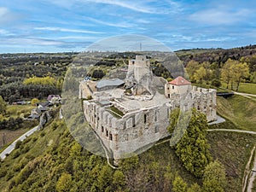
[[[229,182],[226,191],[241,191],[244,168],[256,137],[209,132],[207,139],[212,156],[225,166]],[[66,191],[172,191],[177,175],[189,185],[201,184],[201,179],[183,168],[168,142],[122,160],[120,168],[113,170],[105,158],[81,148],[63,120],[54,119],[1,162],[0,189],[56,191],[66,186]]]

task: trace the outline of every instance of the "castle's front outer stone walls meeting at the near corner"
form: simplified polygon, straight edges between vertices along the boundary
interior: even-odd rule
[[[119,119],[108,111],[108,107],[101,107],[96,101],[84,101],[85,119],[113,153],[115,160],[167,137],[169,108],[166,104],[145,108],[126,113]]]

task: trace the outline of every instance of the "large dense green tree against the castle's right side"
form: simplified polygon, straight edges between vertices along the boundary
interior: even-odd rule
[[[183,137],[174,146],[175,153],[182,161],[183,166],[195,177],[202,177],[205,167],[212,160],[210,146],[206,138],[207,129],[206,115],[193,108],[189,126]],[[171,127],[169,130],[172,131],[173,128]],[[172,132],[170,133],[172,135]]]

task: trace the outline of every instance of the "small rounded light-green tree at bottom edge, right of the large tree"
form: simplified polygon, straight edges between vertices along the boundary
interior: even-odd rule
[[[227,184],[224,165],[215,160],[205,169],[203,176],[203,191],[223,192]]]

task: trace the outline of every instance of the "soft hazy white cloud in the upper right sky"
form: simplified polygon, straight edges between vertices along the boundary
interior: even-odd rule
[[[209,25],[229,25],[244,20],[250,13],[251,11],[249,9],[232,11],[217,8],[196,12],[195,14],[190,15],[189,19]]]

